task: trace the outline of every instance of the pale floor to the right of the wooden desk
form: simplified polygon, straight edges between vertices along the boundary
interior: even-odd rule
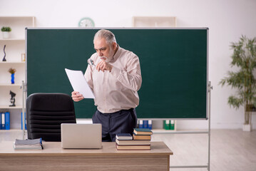
[[[153,141],[161,140],[173,150],[170,165],[207,165],[208,135],[153,135]],[[171,169],[171,171],[207,170],[206,168]],[[211,130],[210,170],[255,171],[256,130]]]

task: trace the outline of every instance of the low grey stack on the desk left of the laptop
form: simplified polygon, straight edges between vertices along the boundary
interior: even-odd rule
[[[34,139],[34,140],[15,140],[14,142],[14,150],[42,150],[43,144],[42,139]]]

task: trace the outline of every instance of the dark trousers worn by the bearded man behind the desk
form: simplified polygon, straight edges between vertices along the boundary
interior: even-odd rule
[[[135,109],[120,110],[116,113],[101,113],[96,110],[93,115],[93,123],[102,125],[102,141],[116,141],[117,133],[130,133],[137,125]]]

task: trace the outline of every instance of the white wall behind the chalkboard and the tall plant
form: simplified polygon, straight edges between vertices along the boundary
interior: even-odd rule
[[[230,42],[242,34],[256,37],[255,0],[1,0],[0,15],[36,16],[36,26],[40,27],[73,27],[86,16],[97,27],[130,27],[133,16],[177,16],[180,27],[208,27],[212,128],[242,128],[243,108],[234,110],[227,105],[234,90],[221,88],[218,82],[230,70]],[[256,128],[255,115],[252,123]],[[205,121],[179,121],[177,125],[183,129],[207,128]]]

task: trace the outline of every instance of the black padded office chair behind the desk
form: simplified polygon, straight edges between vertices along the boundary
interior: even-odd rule
[[[76,123],[71,96],[63,93],[34,93],[26,99],[29,139],[61,141],[61,123]]]

